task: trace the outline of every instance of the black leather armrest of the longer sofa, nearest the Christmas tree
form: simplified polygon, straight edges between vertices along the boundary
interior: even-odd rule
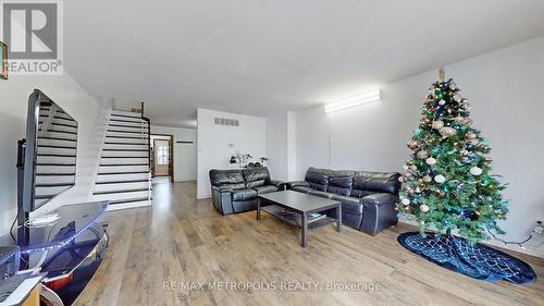
[[[363,206],[360,230],[375,235],[379,232],[397,224],[398,213],[395,194],[373,194],[361,198]]]

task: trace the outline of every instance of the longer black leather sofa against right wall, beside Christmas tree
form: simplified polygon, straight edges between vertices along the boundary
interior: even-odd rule
[[[398,176],[398,173],[310,168],[305,181],[286,186],[342,201],[342,222],[375,235],[397,223]]]

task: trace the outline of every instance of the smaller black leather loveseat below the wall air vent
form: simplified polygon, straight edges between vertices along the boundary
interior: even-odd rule
[[[270,180],[269,170],[210,170],[211,200],[223,215],[257,209],[257,196],[283,191],[284,183]]]

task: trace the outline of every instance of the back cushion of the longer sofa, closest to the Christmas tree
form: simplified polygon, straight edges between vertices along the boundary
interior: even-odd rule
[[[363,197],[375,193],[398,194],[400,183],[395,172],[357,171],[354,178],[351,196]]]

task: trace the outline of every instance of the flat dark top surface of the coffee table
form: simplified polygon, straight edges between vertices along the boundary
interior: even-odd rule
[[[259,195],[259,197],[268,201],[288,207],[298,212],[323,211],[325,209],[337,207],[342,204],[338,200],[307,195],[294,191],[263,194]]]

